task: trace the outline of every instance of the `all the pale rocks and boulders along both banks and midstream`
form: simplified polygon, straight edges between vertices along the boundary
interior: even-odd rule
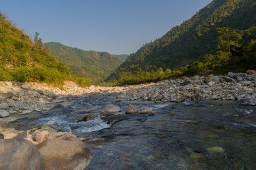
[[[21,131],[15,130],[11,123],[16,121],[12,115],[31,112],[40,114],[41,111],[63,107],[61,103],[75,96],[88,97],[94,93],[117,93],[121,102],[122,98],[156,103],[238,100],[243,105],[256,106],[256,72],[248,70],[246,73],[229,73],[227,76],[183,77],[122,87],[80,88],[73,82],[66,82],[63,89],[59,89],[48,84],[1,81],[0,169],[85,169],[90,164],[92,154],[72,132],[61,132],[54,125]],[[110,104],[102,108],[100,115],[107,118],[120,111],[118,106]],[[126,113],[151,111],[149,107],[129,105]],[[80,121],[87,119],[90,120],[85,116]],[[24,157],[26,161],[16,161],[16,157]]]

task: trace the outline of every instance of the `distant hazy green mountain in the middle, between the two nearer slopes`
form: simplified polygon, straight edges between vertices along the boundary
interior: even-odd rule
[[[121,59],[107,52],[80,50],[62,45],[60,42],[46,42],[44,45],[56,60],[72,69],[72,74],[87,77],[93,84],[103,82],[122,64]]]

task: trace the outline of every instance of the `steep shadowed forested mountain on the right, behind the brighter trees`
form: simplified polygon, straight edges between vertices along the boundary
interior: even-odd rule
[[[204,55],[216,52],[217,28],[228,26],[245,31],[253,28],[255,23],[255,0],[213,0],[188,21],[129,55],[107,81],[118,80],[123,74],[136,74],[139,69],[176,69],[202,60]],[[242,43],[247,44],[255,36],[243,38]]]

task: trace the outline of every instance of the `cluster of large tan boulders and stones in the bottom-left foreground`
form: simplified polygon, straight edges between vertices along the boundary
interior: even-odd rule
[[[90,149],[72,132],[60,131],[54,125],[16,131],[0,118],[0,169],[85,169]]]

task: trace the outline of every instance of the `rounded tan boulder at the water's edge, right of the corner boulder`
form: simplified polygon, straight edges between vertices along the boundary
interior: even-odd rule
[[[90,164],[90,149],[80,140],[48,139],[36,145],[46,169],[85,169]]]

